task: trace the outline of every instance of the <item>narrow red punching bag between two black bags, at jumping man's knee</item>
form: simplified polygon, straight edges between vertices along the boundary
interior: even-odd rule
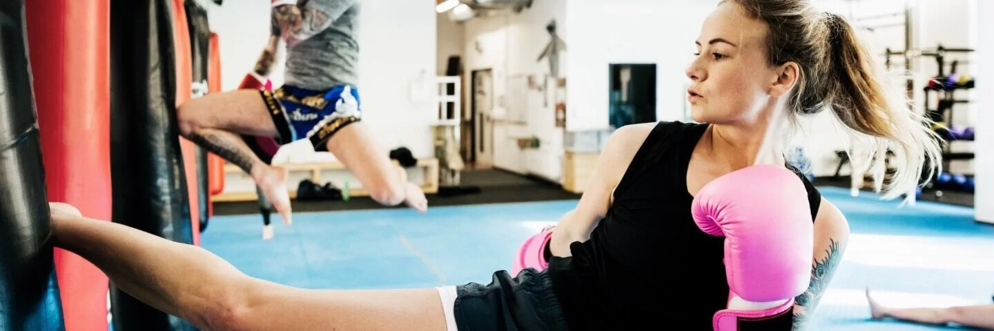
[[[176,50],[176,106],[190,99],[193,83],[193,59],[190,51],[190,29],[183,0],[173,0],[173,45]],[[183,150],[183,168],[186,172],[187,191],[190,196],[190,222],[193,224],[193,245],[200,246],[200,203],[197,197],[197,145],[179,137]]]

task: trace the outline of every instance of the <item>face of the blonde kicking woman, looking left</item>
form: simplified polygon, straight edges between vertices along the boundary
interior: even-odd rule
[[[766,25],[745,15],[738,4],[719,6],[701,28],[698,53],[687,68],[687,92],[695,121],[752,122],[770,103],[776,83],[766,61]]]

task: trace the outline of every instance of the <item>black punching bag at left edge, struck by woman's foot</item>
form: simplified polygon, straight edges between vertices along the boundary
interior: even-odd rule
[[[65,330],[24,26],[0,3],[0,330]]]

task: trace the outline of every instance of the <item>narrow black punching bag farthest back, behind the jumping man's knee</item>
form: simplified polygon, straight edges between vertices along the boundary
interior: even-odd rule
[[[193,90],[190,97],[196,98],[207,94],[208,63],[211,60],[211,27],[207,21],[207,10],[195,0],[186,0],[187,21],[190,30],[190,51],[192,53]],[[210,173],[207,166],[207,150],[197,146],[197,199],[200,201],[200,232],[207,229],[210,218],[211,187]]]

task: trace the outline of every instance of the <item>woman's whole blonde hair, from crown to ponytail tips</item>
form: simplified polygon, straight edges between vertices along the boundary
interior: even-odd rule
[[[854,165],[884,162],[878,156],[893,153],[889,163],[897,172],[883,189],[885,199],[911,192],[920,179],[941,170],[940,139],[931,122],[913,110],[906,91],[885,82],[887,75],[845,18],[819,10],[808,0],[722,3],[729,1],[766,23],[770,64],[793,62],[800,67],[790,95],[788,135],[800,130],[798,117],[831,109],[848,128],[853,146],[860,146],[847,151]]]

